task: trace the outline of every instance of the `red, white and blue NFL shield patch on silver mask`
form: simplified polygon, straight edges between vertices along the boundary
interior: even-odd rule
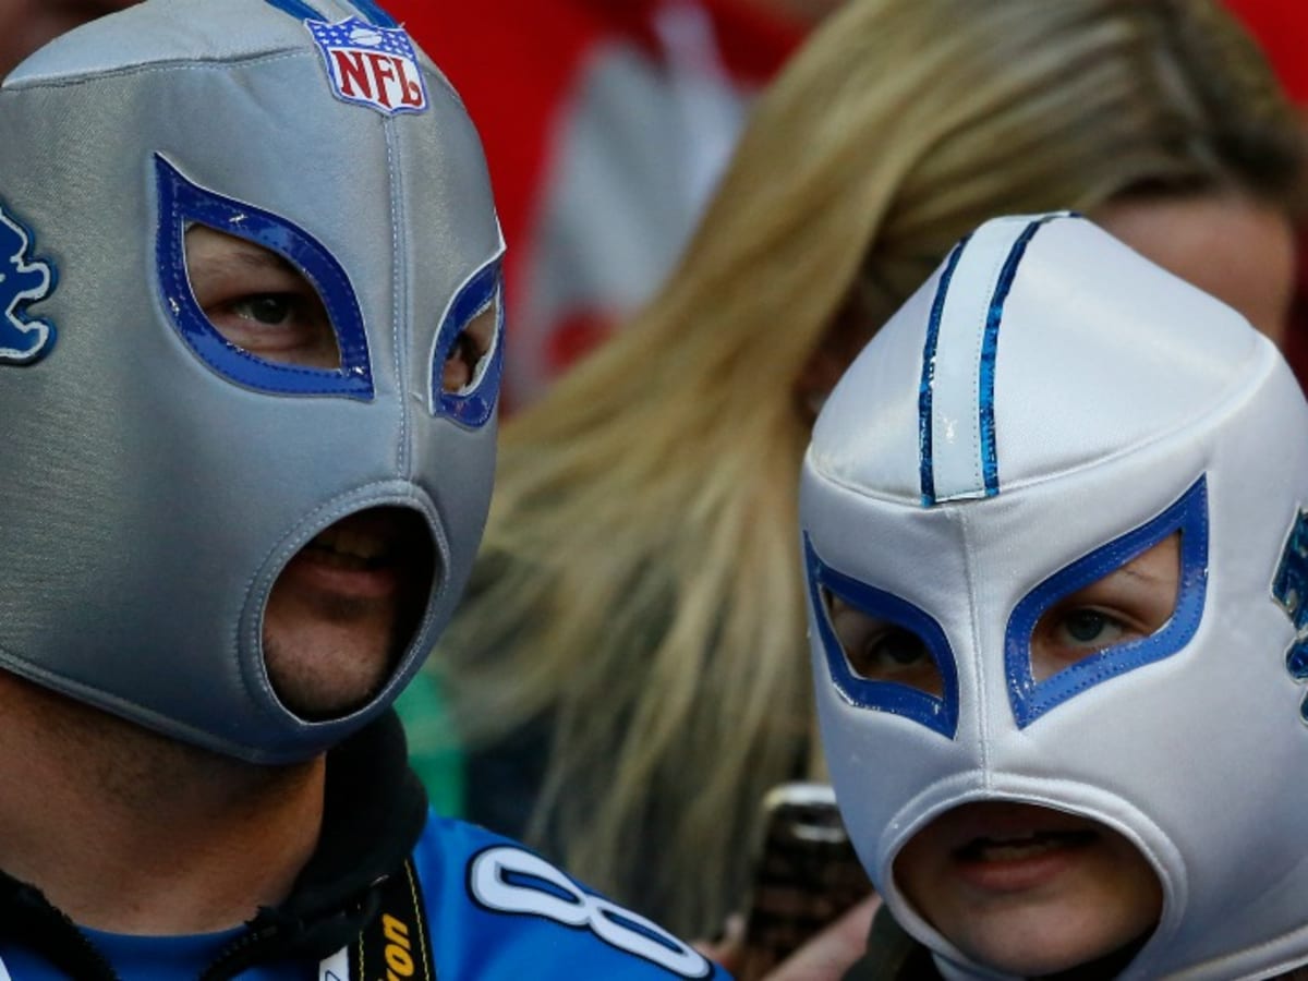
[[[323,52],[336,98],[388,116],[426,110],[426,84],[403,27],[377,27],[358,17],[305,26]]]

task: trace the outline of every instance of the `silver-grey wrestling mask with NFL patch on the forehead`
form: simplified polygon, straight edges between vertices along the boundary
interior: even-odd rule
[[[419,670],[485,519],[504,246],[472,123],[373,3],[149,0],[20,65],[0,129],[0,664],[245,760],[323,751]],[[310,284],[331,366],[216,328],[203,226]],[[362,513],[426,556],[412,627],[364,704],[303,718],[269,593]]]

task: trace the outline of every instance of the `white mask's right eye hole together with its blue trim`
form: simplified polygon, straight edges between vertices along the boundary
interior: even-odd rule
[[[1162,514],[1028,593],[1014,607],[1005,637],[1018,726],[1185,647],[1203,616],[1207,548],[1207,483],[1201,476]]]

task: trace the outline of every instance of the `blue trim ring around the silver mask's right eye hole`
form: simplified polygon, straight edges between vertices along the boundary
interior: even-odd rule
[[[462,425],[477,429],[487,424],[500,395],[500,377],[504,373],[504,272],[502,255],[496,255],[459,286],[454,294],[432,345],[432,415],[449,416]],[[476,365],[476,374],[468,387],[447,392],[442,385],[445,361],[458,336],[492,303],[497,318],[490,347]]]

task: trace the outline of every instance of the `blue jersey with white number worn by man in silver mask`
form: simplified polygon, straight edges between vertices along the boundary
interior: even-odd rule
[[[378,956],[388,977],[439,981],[679,981],[727,974],[644,917],[585,889],[539,855],[463,821],[429,816],[404,872],[412,921],[383,906]],[[141,938],[85,931],[124,981],[198,977],[239,931]],[[60,978],[0,943],[13,981]],[[351,948],[322,963],[275,961],[243,981],[365,981]],[[4,981],[4,973],[0,973]],[[368,972],[366,981],[374,981]]]

